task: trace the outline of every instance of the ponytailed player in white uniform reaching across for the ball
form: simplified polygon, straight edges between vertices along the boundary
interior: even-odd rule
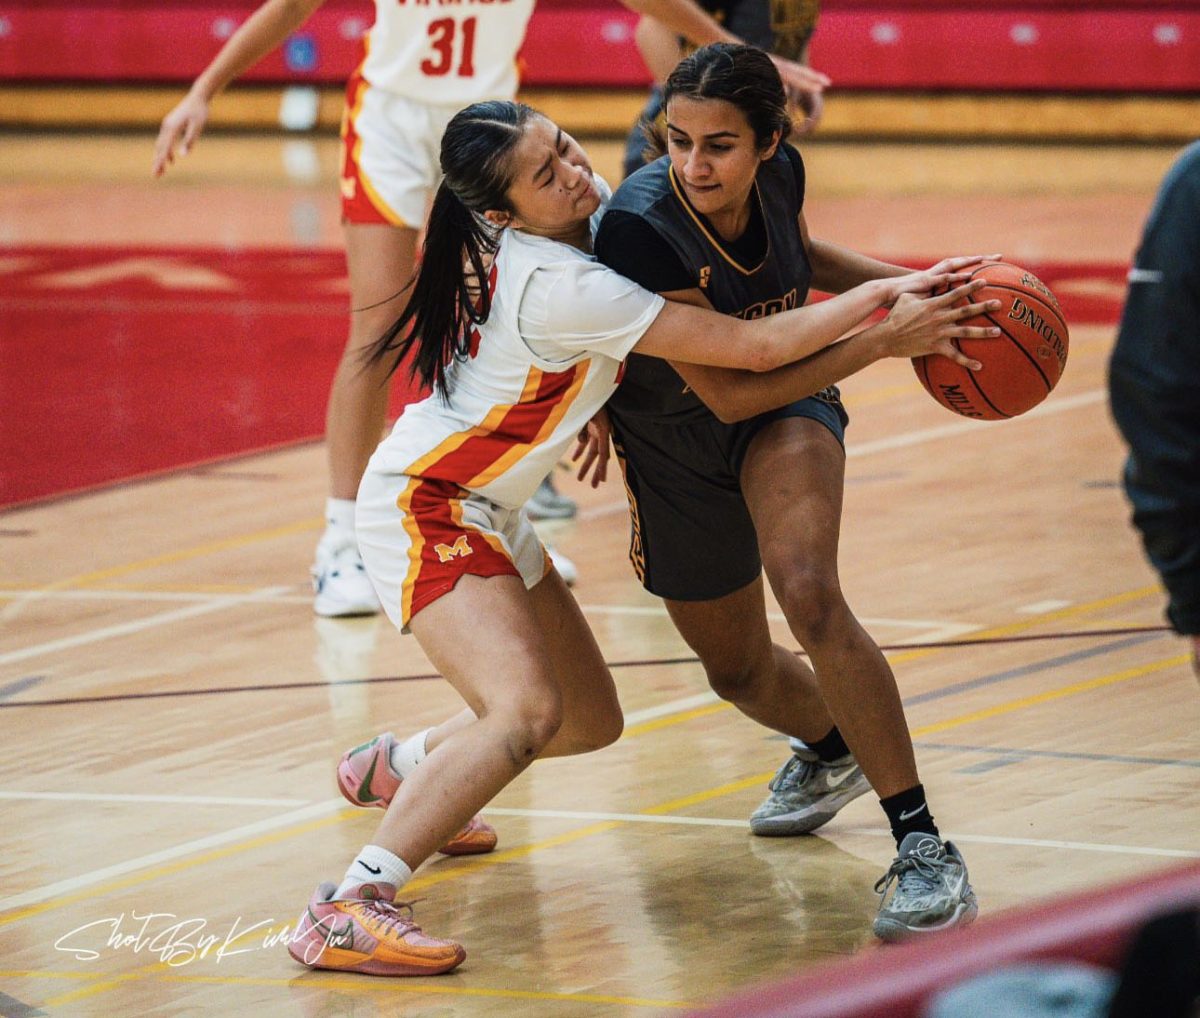
[[[358,540],[384,610],[467,707],[402,780],[373,744],[347,755],[366,765],[360,804],[388,810],[289,944],[302,964],[372,975],[456,968],[463,948],[424,934],[396,892],[535,759],[620,735],[600,648],[521,507],[616,390],[626,355],[767,371],[890,305],[846,342],[870,359],[937,352],[978,367],[950,340],[992,331],[961,324],[983,305],[952,306],[982,282],[916,297],[954,273],[872,281],[757,321],[668,304],[592,257],[607,186],[572,138],[520,103],[456,114],[440,168],[421,268],[370,349],[385,373],[410,365],[433,391],[371,457]]]

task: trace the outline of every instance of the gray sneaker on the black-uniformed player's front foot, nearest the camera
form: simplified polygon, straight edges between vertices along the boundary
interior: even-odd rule
[[[888,900],[893,881],[895,890]],[[962,855],[950,842],[919,831],[905,836],[895,862],[875,890],[880,893],[875,935],[881,940],[907,940],[966,926],[979,914]]]

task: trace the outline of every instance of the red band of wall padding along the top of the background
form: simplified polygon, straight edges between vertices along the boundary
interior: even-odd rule
[[[186,82],[246,0],[0,0],[0,80]],[[330,0],[246,74],[341,82],[372,5]],[[542,0],[529,85],[638,86],[635,16],[616,0]],[[1200,90],[1200,10],[1184,0],[827,0],[812,62],[844,89]]]

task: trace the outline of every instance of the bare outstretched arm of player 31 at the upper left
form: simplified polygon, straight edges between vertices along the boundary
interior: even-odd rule
[[[226,41],[192,83],[180,103],[163,118],[154,146],[152,173],[162,176],[180,156],[191,151],[209,118],[209,103],[222,89],[302,25],[325,0],[266,0]]]

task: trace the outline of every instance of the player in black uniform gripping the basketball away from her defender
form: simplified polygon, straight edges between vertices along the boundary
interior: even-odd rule
[[[700,49],[665,98],[668,155],[617,191],[596,236],[601,262],[670,300],[742,318],[802,305],[810,286],[840,293],[911,271],[809,238],[804,163],[786,144],[786,96],[762,50]],[[793,738],[751,830],[806,833],[874,786],[898,846],[876,888],[875,932],[893,940],[967,923],[977,905],[925,801],[895,678],[838,579],[847,417],[833,383],[874,358],[857,337],[760,376],[635,354],[607,413],[640,579],[713,689]],[[811,669],[772,642],[763,571]]]

